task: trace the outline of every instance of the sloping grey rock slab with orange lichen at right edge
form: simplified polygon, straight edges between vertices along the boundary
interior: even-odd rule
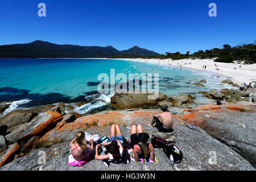
[[[211,105],[185,109],[181,119],[204,129],[256,166],[256,106]]]

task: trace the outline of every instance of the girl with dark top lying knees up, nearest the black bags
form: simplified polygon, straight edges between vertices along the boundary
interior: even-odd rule
[[[135,162],[139,162],[139,159],[148,159],[149,162],[155,162],[155,155],[154,155],[154,147],[152,144],[148,144],[147,140],[150,136],[147,133],[143,133],[143,129],[141,125],[133,125],[131,126],[130,132],[130,143],[131,148],[133,148],[133,160]]]

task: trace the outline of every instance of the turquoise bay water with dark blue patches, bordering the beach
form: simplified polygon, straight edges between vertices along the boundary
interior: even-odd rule
[[[176,68],[176,69],[174,69]],[[100,73],[159,73],[159,91],[173,96],[225,88],[210,72],[111,59],[0,59],[0,101],[27,106],[80,101],[97,90]],[[192,84],[205,78],[205,88]],[[119,81],[116,81],[116,83]],[[190,84],[188,82],[191,82]],[[110,101],[110,96],[106,98]]]

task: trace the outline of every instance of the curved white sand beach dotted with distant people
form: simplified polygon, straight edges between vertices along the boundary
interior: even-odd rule
[[[237,64],[237,63],[217,63],[213,62],[214,59],[180,59],[180,60],[171,60],[171,59],[118,59],[118,60],[131,60],[131,61],[140,61],[147,63],[163,64],[167,65],[170,63],[174,66],[182,65],[182,67],[197,69],[201,71],[212,71],[220,75],[230,77],[230,79],[241,85],[243,82],[249,84],[251,81],[256,81],[256,64]],[[187,64],[185,64],[187,63]],[[191,63],[191,64],[188,64]],[[218,67],[215,67],[217,64]],[[206,65],[207,68],[203,69],[203,65]],[[241,68],[239,67],[241,65]],[[219,70],[217,71],[216,68]],[[234,69],[236,68],[236,69]],[[253,83],[252,83],[253,84]]]

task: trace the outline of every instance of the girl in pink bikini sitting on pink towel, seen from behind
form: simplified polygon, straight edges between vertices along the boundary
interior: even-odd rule
[[[76,138],[69,143],[69,147],[71,147],[71,155],[68,157],[68,164],[71,166],[83,166],[94,159],[93,139],[90,140],[89,145],[83,131],[76,134]]]

